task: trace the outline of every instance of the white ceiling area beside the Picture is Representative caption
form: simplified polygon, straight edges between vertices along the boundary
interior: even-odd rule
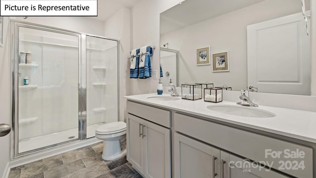
[[[98,16],[90,18],[105,21],[120,8],[131,8],[139,1],[140,0],[98,0]]]

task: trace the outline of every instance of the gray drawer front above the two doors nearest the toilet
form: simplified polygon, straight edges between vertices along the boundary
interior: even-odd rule
[[[138,116],[140,118],[170,128],[170,111],[135,103],[132,101],[126,102],[126,111],[129,114]]]

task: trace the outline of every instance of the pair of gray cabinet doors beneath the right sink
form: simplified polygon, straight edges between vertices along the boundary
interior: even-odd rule
[[[288,178],[187,136],[174,135],[175,178]]]

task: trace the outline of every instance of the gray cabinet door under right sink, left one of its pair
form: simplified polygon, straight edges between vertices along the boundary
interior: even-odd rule
[[[175,133],[175,178],[218,178],[220,151]]]

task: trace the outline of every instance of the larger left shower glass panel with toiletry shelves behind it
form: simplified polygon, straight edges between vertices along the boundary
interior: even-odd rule
[[[80,34],[26,24],[15,31],[15,154],[78,140]]]

